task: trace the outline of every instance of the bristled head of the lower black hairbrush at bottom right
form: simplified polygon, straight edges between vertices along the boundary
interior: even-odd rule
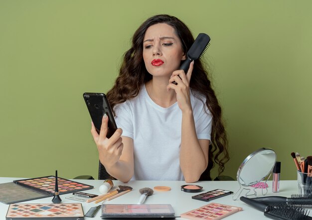
[[[312,218],[309,217],[309,214],[309,210],[285,204],[269,206],[268,210],[264,213],[267,217],[275,217],[282,220],[311,220]]]

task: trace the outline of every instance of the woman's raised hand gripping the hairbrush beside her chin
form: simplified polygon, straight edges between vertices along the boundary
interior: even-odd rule
[[[189,94],[189,82],[191,80],[193,67],[194,61],[190,63],[187,74],[185,74],[183,70],[174,71],[169,79],[169,84],[167,85],[168,91],[170,89],[175,91],[176,101],[182,111],[192,110]],[[177,85],[173,84],[173,81],[175,81]]]

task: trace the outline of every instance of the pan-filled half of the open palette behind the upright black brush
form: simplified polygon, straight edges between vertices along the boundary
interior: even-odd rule
[[[93,189],[93,186],[86,185],[83,183],[74,182],[64,178],[57,178],[58,181],[58,191],[59,194],[73,193],[83,190]],[[54,195],[55,189],[55,176],[46,176],[46,177],[37,177],[24,180],[14,180],[13,183],[16,183],[20,186],[34,189],[45,194]]]

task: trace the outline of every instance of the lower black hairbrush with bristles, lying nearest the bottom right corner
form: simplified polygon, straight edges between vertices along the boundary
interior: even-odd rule
[[[263,202],[259,202],[247,197],[241,197],[241,201],[254,207],[255,209],[264,212],[266,217],[276,220],[312,220],[309,216],[310,211],[295,207],[292,205],[284,204],[272,204],[268,205]]]

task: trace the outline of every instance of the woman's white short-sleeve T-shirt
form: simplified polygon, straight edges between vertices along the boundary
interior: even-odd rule
[[[197,138],[210,140],[212,115],[206,98],[190,94]],[[144,85],[137,97],[117,105],[115,111],[122,136],[133,139],[132,180],[184,180],[179,162],[182,112],[177,103],[158,106]]]

